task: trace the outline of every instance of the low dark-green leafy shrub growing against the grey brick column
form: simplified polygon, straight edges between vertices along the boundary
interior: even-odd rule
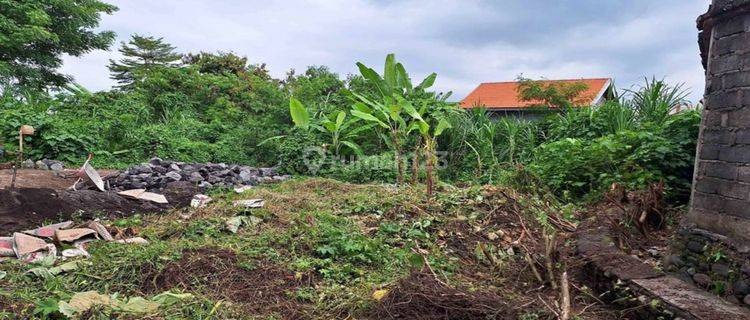
[[[527,169],[566,199],[596,197],[612,183],[629,190],[664,181],[670,196],[690,184],[692,152],[661,132],[622,131],[594,140],[543,144]]]

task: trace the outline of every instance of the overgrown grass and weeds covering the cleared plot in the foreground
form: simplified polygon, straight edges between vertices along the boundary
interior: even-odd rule
[[[299,287],[287,294],[288,299],[302,306],[307,318],[362,317],[368,314],[377,303],[372,298],[373,291],[393,285],[415,268],[421,269],[423,259],[427,259],[439,277],[455,284],[464,283],[479,289],[487,288],[493,281],[504,282],[496,276],[491,276],[490,279],[495,280],[490,282],[467,280],[476,275],[467,271],[474,269],[467,269],[466,263],[487,263],[487,257],[477,256],[474,252],[479,243],[476,241],[488,241],[490,251],[497,250],[497,253],[491,253],[493,256],[505,256],[501,251],[506,249],[490,244],[486,235],[518,230],[498,231],[498,226],[488,224],[497,219],[489,215],[491,210],[497,209],[488,207],[479,188],[444,188],[430,200],[419,186],[395,188],[391,185],[354,185],[329,179],[294,179],[254,188],[243,194],[216,194],[216,201],[207,208],[105,221],[132,228],[150,244],[93,243],[89,248],[92,256],[84,260],[79,269],[49,279],[26,274],[33,266],[17,261],[5,262],[3,270],[8,276],[0,280],[0,301],[12,301],[15,307],[2,309],[8,313],[6,317],[18,313],[43,318],[40,310],[44,306],[67,301],[74,293],[88,290],[117,293],[122,297],[150,298],[154,293],[143,288],[146,270],[162,270],[180,260],[184,250],[200,248],[234,252],[237,265],[247,266],[250,270],[252,266],[271,263],[282,266],[295,277],[308,279],[305,281],[309,281],[310,286]],[[242,211],[231,205],[233,200],[250,198],[264,199],[265,207]],[[191,216],[185,218],[186,214]],[[238,214],[252,215],[262,222],[243,226],[237,234],[232,234],[226,230],[225,222]],[[528,215],[529,224],[532,224],[546,213],[529,209],[523,214]],[[515,221],[517,217],[503,219]],[[472,240],[466,240],[465,244],[452,244],[454,237],[463,239],[470,234]],[[188,288],[187,292],[195,299],[163,308],[149,317],[278,317],[244,313],[243,307],[253,301],[219,299],[200,287]],[[512,301],[519,296],[509,292],[507,298]],[[101,318],[117,314],[102,308],[87,316]],[[141,316],[130,315],[134,318]]]

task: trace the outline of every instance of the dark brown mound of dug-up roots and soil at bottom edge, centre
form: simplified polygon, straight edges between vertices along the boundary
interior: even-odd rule
[[[516,319],[503,299],[491,292],[469,292],[413,272],[380,301],[372,319]]]

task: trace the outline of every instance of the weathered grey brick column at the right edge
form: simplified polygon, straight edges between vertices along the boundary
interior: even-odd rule
[[[713,0],[698,18],[706,69],[703,119],[686,222],[750,241],[750,0]]]

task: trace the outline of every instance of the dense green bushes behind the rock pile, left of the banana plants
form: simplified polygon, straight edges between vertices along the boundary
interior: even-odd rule
[[[159,155],[182,161],[281,164],[300,172],[294,149],[315,145],[314,137],[298,141],[300,146],[293,141],[259,146],[290,130],[290,92],[304,92],[309,100],[327,97],[322,105],[313,104],[316,111],[349,108],[333,97],[346,82],[323,67],[290,75],[286,82],[256,66],[238,73],[202,69],[158,68],[128,91],[91,93],[71,87],[55,96],[6,91],[0,101],[0,143],[16,151],[16,130],[29,124],[37,129],[26,138],[27,155],[34,159],[80,163],[94,153],[97,166],[124,167]]]

